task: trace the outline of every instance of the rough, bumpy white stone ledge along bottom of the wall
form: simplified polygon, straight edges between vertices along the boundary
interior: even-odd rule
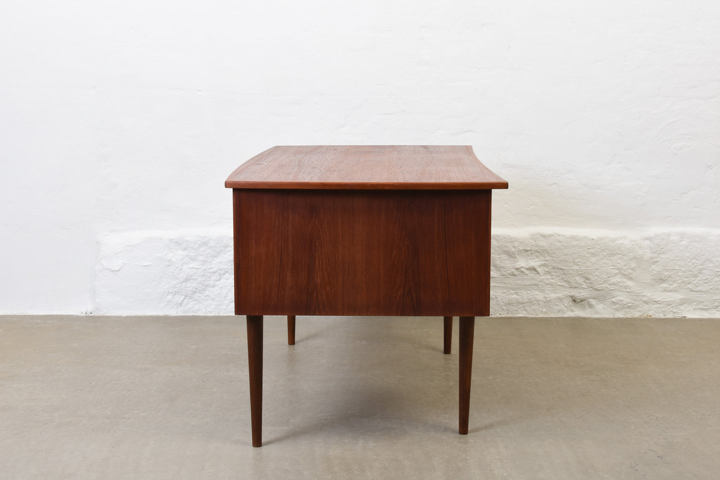
[[[497,229],[493,316],[720,317],[719,229]],[[226,231],[138,231],[100,241],[99,314],[233,314]]]

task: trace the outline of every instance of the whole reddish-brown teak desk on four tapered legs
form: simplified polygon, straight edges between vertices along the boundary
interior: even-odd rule
[[[508,182],[470,146],[276,146],[238,167],[235,315],[247,316],[253,447],[262,445],[263,316],[460,317],[467,435],[475,316],[490,314],[490,196]]]

